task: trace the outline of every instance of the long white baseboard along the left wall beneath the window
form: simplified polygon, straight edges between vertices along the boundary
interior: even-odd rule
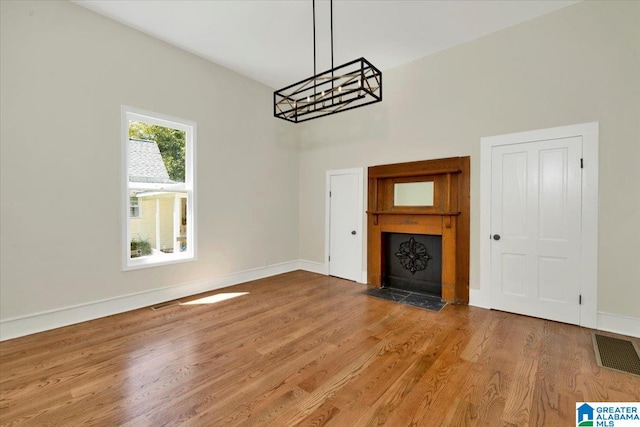
[[[225,288],[251,280],[301,269],[300,261],[289,261],[266,267],[254,268],[219,277],[181,283],[160,289],[122,295],[70,307],[0,320],[0,341],[17,338],[62,326],[86,322],[125,311],[136,310],[176,298]]]

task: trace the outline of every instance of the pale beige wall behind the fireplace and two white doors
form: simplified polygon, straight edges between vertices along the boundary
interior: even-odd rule
[[[325,170],[470,155],[478,289],[480,138],[595,121],[598,310],[640,318],[640,2],[579,3],[383,77],[382,103],[302,125],[302,259],[323,262]]]

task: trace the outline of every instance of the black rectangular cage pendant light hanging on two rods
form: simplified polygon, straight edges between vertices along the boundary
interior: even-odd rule
[[[313,0],[313,76],[273,92],[273,115],[293,123],[324,117],[382,101],[382,73],[365,58],[316,72],[316,1]]]

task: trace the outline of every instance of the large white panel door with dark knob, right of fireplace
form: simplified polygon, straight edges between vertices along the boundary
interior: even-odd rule
[[[581,137],[492,148],[494,308],[580,324],[581,155]]]

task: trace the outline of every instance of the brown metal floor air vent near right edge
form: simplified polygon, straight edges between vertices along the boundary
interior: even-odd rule
[[[592,334],[598,366],[640,376],[640,351],[629,340]]]

